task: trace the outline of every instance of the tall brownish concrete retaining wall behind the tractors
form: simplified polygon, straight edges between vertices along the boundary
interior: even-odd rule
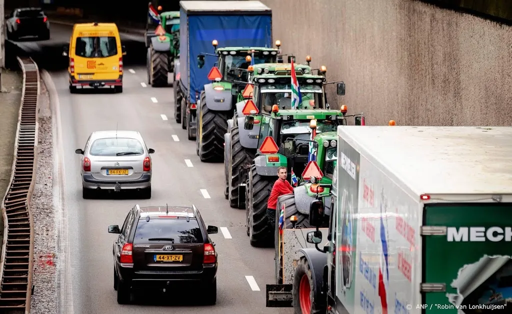
[[[369,125],[512,123],[508,26],[414,0],[261,1],[283,52],[344,80],[337,105]]]

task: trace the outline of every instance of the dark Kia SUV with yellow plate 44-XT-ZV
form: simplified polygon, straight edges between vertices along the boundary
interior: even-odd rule
[[[217,301],[217,252],[196,206],[135,205],[123,227],[109,226],[114,241],[114,289],[119,304],[130,303],[132,289],[181,289],[187,282],[202,291],[207,304]],[[164,290],[164,291],[165,291]]]

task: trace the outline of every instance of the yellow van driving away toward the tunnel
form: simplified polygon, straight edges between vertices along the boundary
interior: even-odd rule
[[[63,56],[69,56],[69,91],[77,88],[114,88],[123,92],[123,55],[119,31],[114,23],[75,24],[64,47]]]

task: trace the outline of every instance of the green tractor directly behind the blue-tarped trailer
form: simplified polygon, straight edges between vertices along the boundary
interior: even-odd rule
[[[281,42],[278,48],[264,47],[225,47],[217,48],[218,42],[212,42],[218,58],[217,66],[211,69],[197,105],[196,153],[202,162],[222,161],[224,155],[224,134],[227,132],[227,120],[233,116],[236,103],[250,98],[250,92],[244,87],[248,81],[249,66],[278,61]],[[198,56],[199,67],[204,65],[206,54]],[[220,69],[220,70],[219,70]]]

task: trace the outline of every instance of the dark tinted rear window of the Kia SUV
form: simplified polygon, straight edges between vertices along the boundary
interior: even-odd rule
[[[174,239],[167,240],[168,238]],[[134,243],[153,243],[160,241],[170,243],[203,243],[203,235],[196,219],[160,219],[151,218],[147,221],[141,218],[135,230]],[[164,240],[165,239],[165,240]]]

